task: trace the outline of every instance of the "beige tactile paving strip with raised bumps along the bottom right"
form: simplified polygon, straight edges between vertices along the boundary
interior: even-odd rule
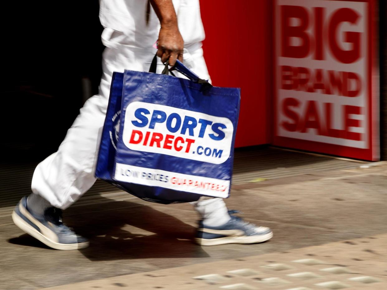
[[[387,289],[387,234],[48,289]]]

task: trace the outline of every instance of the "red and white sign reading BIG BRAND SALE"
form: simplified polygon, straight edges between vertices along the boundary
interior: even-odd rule
[[[274,144],[379,159],[375,3],[277,0]]]

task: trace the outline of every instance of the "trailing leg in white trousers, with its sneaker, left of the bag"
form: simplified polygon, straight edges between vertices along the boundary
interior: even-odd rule
[[[15,207],[12,213],[15,224],[47,246],[55,249],[88,246],[86,239],[62,223],[60,209],[74,203],[96,180],[94,171],[113,71],[142,70],[143,55],[140,49],[105,49],[99,95],[91,97],[80,109],[58,151],[36,167],[33,193]],[[147,58],[151,59],[152,54]]]

